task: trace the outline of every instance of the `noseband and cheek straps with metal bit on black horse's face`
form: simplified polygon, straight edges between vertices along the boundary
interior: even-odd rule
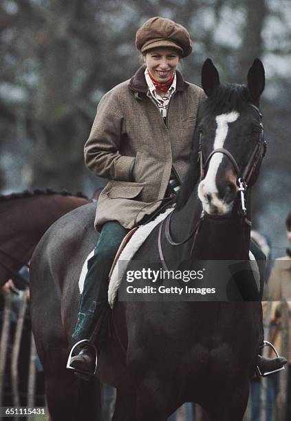
[[[259,111],[259,108],[257,108],[253,104],[248,104],[248,105],[252,107],[252,109],[255,109],[255,111],[259,114],[259,117],[261,119],[262,116],[261,116],[261,111]],[[263,135],[262,122],[260,122],[260,127],[261,127],[261,133],[259,136],[259,141],[257,142],[257,145],[254,151],[252,151],[252,155],[250,155],[250,159],[248,160],[248,164],[246,164],[246,168],[244,169],[244,171],[241,171],[239,169],[237,161],[233,157],[232,153],[230,153],[230,151],[228,151],[225,148],[214,149],[208,155],[208,158],[206,159],[205,164],[204,164],[203,154],[202,154],[202,136],[201,135],[200,135],[200,140],[199,140],[198,162],[200,162],[200,180],[204,180],[204,177],[206,176],[206,173],[207,173],[208,164],[211,158],[213,157],[213,155],[215,155],[215,153],[223,153],[224,155],[226,155],[228,159],[230,160],[230,162],[233,164],[233,168],[235,169],[235,173],[237,174],[237,183],[239,185],[239,191],[241,193],[241,208],[243,210],[243,213],[246,213],[246,206],[244,202],[244,193],[246,191],[246,187],[248,186],[248,182],[250,181],[250,178],[252,177],[252,174],[255,171],[257,163],[263,159],[263,157],[266,155],[266,150],[267,150],[267,142]]]

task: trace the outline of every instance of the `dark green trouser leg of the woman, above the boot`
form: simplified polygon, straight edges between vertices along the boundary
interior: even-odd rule
[[[78,321],[72,334],[78,341],[90,338],[97,321],[100,327],[95,342],[103,343],[106,339],[110,310],[108,275],[120,243],[128,232],[129,230],[123,228],[117,221],[106,222],[101,228],[94,256],[87,263],[88,270],[78,307]]]

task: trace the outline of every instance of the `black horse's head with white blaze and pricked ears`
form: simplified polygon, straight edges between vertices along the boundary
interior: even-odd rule
[[[257,58],[248,84],[221,85],[208,58],[202,68],[202,87],[208,96],[198,116],[195,138],[200,144],[202,180],[198,196],[210,215],[230,213],[239,188],[254,184],[266,147],[259,112],[265,86],[263,64]]]

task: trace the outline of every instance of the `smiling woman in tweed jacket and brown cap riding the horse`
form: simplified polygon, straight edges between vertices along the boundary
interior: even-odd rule
[[[69,362],[76,374],[95,372],[91,336],[100,346],[107,335],[108,275],[114,256],[135,223],[147,220],[162,199],[180,188],[198,107],[205,98],[204,91],[176,69],[180,58],[192,52],[182,25],[162,17],[149,19],[136,33],[136,47],[145,65],[103,96],[85,144],[88,168],[111,181],[98,200],[95,226],[100,236],[88,261],[73,334],[76,341],[87,340]],[[259,357],[261,372],[282,365],[283,359]]]

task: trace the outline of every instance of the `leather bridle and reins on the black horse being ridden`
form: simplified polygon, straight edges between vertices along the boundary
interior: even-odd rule
[[[252,109],[255,109],[257,114],[259,114],[259,118],[261,120],[262,115],[261,115],[261,111],[259,111],[259,108],[256,107],[253,104],[248,104],[248,105],[250,107],[252,107]],[[201,134],[200,134],[200,141],[199,141],[199,152],[198,152],[197,162],[200,163],[200,181],[204,180],[204,177],[206,177],[208,164],[209,164],[211,158],[213,157],[213,155],[215,155],[215,153],[223,153],[224,155],[226,155],[228,157],[228,159],[230,160],[230,162],[233,164],[233,168],[235,169],[235,173],[237,174],[237,184],[239,186],[239,192],[240,192],[240,198],[241,198],[241,213],[243,215],[242,220],[244,222],[246,222],[246,224],[248,224],[249,226],[251,226],[251,222],[248,221],[248,219],[246,217],[246,203],[245,203],[244,195],[246,193],[246,188],[248,187],[248,183],[250,182],[252,174],[255,172],[255,169],[257,167],[258,162],[261,162],[261,160],[263,160],[263,157],[266,155],[266,151],[267,151],[267,142],[266,142],[266,139],[264,137],[262,121],[260,122],[260,128],[261,128],[261,131],[260,131],[260,134],[259,134],[259,140],[256,144],[255,149],[252,151],[252,155],[250,155],[250,159],[248,160],[248,163],[246,164],[246,167],[242,171],[241,171],[241,169],[239,169],[239,166],[237,164],[237,161],[233,157],[233,154],[230,153],[230,151],[228,151],[228,149],[225,149],[225,148],[213,149],[213,151],[211,153],[209,153],[209,155],[206,158],[205,163],[204,163],[203,151],[202,151],[203,141],[202,141],[202,135]],[[164,265],[164,268],[166,268],[166,270],[168,270],[168,268],[166,266],[164,254],[163,254],[163,251],[162,251],[162,228],[165,227],[164,234],[165,234],[166,240],[168,241],[169,244],[171,244],[171,246],[181,246],[182,244],[185,244],[187,241],[189,241],[193,237],[193,244],[191,246],[191,252],[190,252],[190,255],[192,255],[192,252],[193,252],[193,249],[194,249],[194,246],[195,246],[195,242],[196,242],[196,238],[197,238],[197,235],[199,233],[201,224],[202,224],[203,219],[204,219],[204,211],[202,210],[199,221],[197,222],[197,224],[195,225],[193,230],[191,230],[191,233],[188,235],[188,237],[186,237],[186,239],[184,239],[180,242],[174,241],[174,239],[171,235],[171,217],[172,217],[172,215],[173,215],[173,212],[171,212],[169,214],[169,216],[166,217],[166,219],[164,219],[162,221],[162,223],[160,224],[159,233],[158,233],[158,250],[159,250],[160,260],[162,261],[162,263]]]

